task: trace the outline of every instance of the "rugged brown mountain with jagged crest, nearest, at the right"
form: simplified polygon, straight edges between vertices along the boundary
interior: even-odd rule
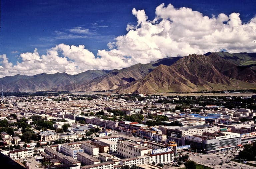
[[[117,93],[192,92],[256,88],[255,72],[237,66],[216,53],[189,55],[171,66],[160,65],[146,77],[116,90]],[[251,82],[251,83],[248,83]]]

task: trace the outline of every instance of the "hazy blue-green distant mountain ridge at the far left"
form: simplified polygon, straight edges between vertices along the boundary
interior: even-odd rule
[[[69,75],[67,73],[42,73],[34,76],[15,75],[0,78],[0,84],[3,84],[5,92],[49,91],[52,88],[59,88],[85,79],[89,82],[108,72],[105,70],[89,70],[77,75]]]

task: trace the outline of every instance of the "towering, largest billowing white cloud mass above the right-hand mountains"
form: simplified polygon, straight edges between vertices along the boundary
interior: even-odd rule
[[[110,49],[115,46],[116,51],[131,56],[136,63],[223,49],[232,53],[256,52],[256,17],[242,24],[239,13],[210,18],[190,8],[176,9],[172,4],[159,5],[155,13],[154,20],[149,21],[144,10],[133,9],[137,25],[128,24],[128,33],[109,43]]]

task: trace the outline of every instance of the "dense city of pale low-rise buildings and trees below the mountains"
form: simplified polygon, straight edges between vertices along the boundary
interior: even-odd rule
[[[10,95],[1,153],[26,168],[255,168],[253,94]]]

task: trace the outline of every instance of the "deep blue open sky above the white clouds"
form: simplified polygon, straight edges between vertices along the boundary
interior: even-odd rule
[[[155,17],[155,9],[161,3],[171,3],[175,8],[188,7],[212,17],[224,13],[240,13],[243,23],[256,14],[255,0],[1,0],[0,54],[6,54],[9,62],[20,61],[20,53],[40,54],[57,44],[85,45],[97,54],[108,49],[107,43],[127,33],[127,24],[137,23],[132,9],[144,9],[149,20]],[[86,33],[71,32],[81,27]],[[17,51],[17,52],[16,52]],[[15,57],[16,56],[16,57]]]

